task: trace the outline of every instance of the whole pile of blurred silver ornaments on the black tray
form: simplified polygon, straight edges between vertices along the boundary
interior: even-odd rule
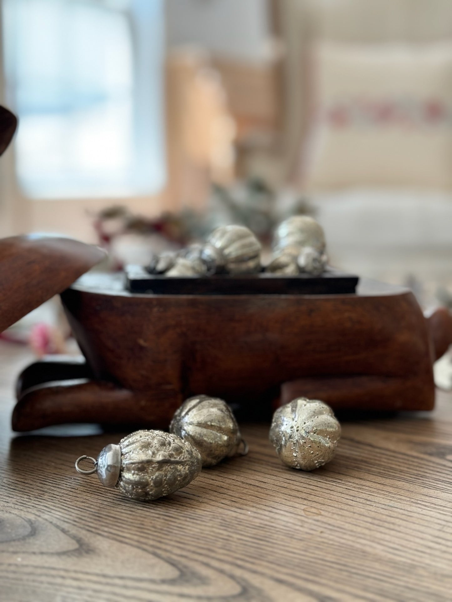
[[[153,275],[169,277],[245,275],[262,272],[295,276],[320,275],[327,266],[325,235],[321,225],[309,216],[292,216],[275,232],[273,253],[262,268],[262,247],[245,226],[221,226],[204,244],[191,244],[178,252],[155,255],[146,268]]]

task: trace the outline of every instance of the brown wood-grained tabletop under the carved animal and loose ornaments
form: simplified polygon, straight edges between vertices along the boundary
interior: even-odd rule
[[[280,464],[268,425],[245,425],[246,458],[137,503],[74,469],[117,433],[11,433],[31,358],[0,357],[1,600],[452,599],[451,395],[431,414],[344,422],[313,473]]]

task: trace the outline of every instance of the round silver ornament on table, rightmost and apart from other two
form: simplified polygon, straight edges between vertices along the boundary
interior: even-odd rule
[[[330,462],[341,436],[341,425],[326,403],[298,397],[278,408],[270,441],[290,468],[313,470]]]

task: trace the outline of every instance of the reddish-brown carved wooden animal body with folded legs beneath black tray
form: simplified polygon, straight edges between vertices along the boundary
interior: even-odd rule
[[[49,384],[25,371],[15,430],[167,427],[199,393],[253,407],[255,418],[302,394],[336,409],[433,408],[433,343],[444,323],[428,323],[404,288],[362,281],[349,295],[163,296],[93,274],[61,298],[87,359],[84,380],[74,382],[73,367],[61,377],[60,366]]]

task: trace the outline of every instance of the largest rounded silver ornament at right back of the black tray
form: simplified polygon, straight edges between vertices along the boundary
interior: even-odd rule
[[[275,232],[274,249],[298,256],[303,247],[313,247],[319,253],[326,248],[322,226],[309,216],[292,216],[281,222]]]

